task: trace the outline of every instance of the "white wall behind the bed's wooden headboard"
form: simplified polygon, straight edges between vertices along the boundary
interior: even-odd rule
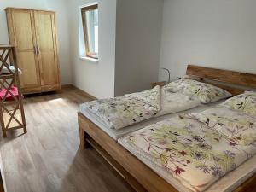
[[[254,0],[165,0],[160,67],[172,78],[188,63],[256,73],[255,8]]]

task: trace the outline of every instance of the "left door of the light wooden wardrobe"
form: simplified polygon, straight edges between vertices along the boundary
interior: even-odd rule
[[[22,70],[20,87],[23,93],[40,92],[37,44],[33,12],[26,9],[7,9],[9,41],[15,45],[18,67]]]

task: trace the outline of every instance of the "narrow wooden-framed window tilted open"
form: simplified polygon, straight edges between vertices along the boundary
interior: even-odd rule
[[[98,5],[81,9],[84,31],[85,55],[98,59]]]

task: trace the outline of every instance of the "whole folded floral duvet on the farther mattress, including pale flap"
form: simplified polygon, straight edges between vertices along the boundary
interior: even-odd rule
[[[156,86],[152,90],[100,99],[83,105],[108,128],[119,130],[154,116],[195,108],[200,105],[200,101],[192,96],[162,91],[160,86]]]

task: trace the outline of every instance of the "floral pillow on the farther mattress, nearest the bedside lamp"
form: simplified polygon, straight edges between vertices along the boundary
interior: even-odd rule
[[[228,91],[212,84],[201,83],[192,79],[180,79],[165,85],[172,92],[182,92],[187,96],[197,96],[201,103],[217,102],[232,96]]]

